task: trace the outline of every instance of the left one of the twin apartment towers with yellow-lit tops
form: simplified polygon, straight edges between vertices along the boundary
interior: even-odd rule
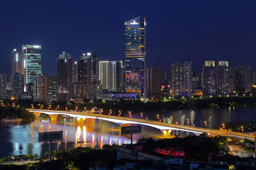
[[[202,72],[203,96],[215,95],[215,61],[205,61]]]

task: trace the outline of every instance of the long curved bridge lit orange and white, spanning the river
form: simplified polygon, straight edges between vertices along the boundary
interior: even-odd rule
[[[72,118],[75,118],[78,121],[78,124],[82,124],[85,122],[85,118],[93,118],[99,120],[106,120],[112,123],[117,123],[119,125],[122,124],[139,124],[139,125],[146,125],[150,127],[157,128],[161,130],[161,132],[166,133],[168,130],[181,130],[186,132],[193,132],[193,133],[206,133],[208,135],[220,135],[226,137],[235,137],[239,139],[250,139],[255,140],[255,137],[252,135],[247,135],[241,132],[228,132],[223,130],[213,130],[208,128],[198,128],[192,127],[188,125],[177,125],[174,123],[163,123],[155,120],[145,120],[140,118],[127,118],[122,116],[116,115],[102,115],[97,113],[84,113],[84,112],[70,112],[70,111],[55,111],[55,110],[42,110],[42,109],[27,109],[27,111],[33,112],[36,116],[39,116],[41,113],[45,113],[50,115],[51,120],[57,120],[58,115],[68,115]]]

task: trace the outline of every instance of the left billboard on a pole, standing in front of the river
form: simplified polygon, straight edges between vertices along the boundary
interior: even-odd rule
[[[38,132],[38,142],[63,140],[63,131]]]

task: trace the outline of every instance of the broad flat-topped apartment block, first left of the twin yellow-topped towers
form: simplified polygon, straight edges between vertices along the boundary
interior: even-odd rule
[[[171,64],[171,96],[192,96],[192,62]]]

